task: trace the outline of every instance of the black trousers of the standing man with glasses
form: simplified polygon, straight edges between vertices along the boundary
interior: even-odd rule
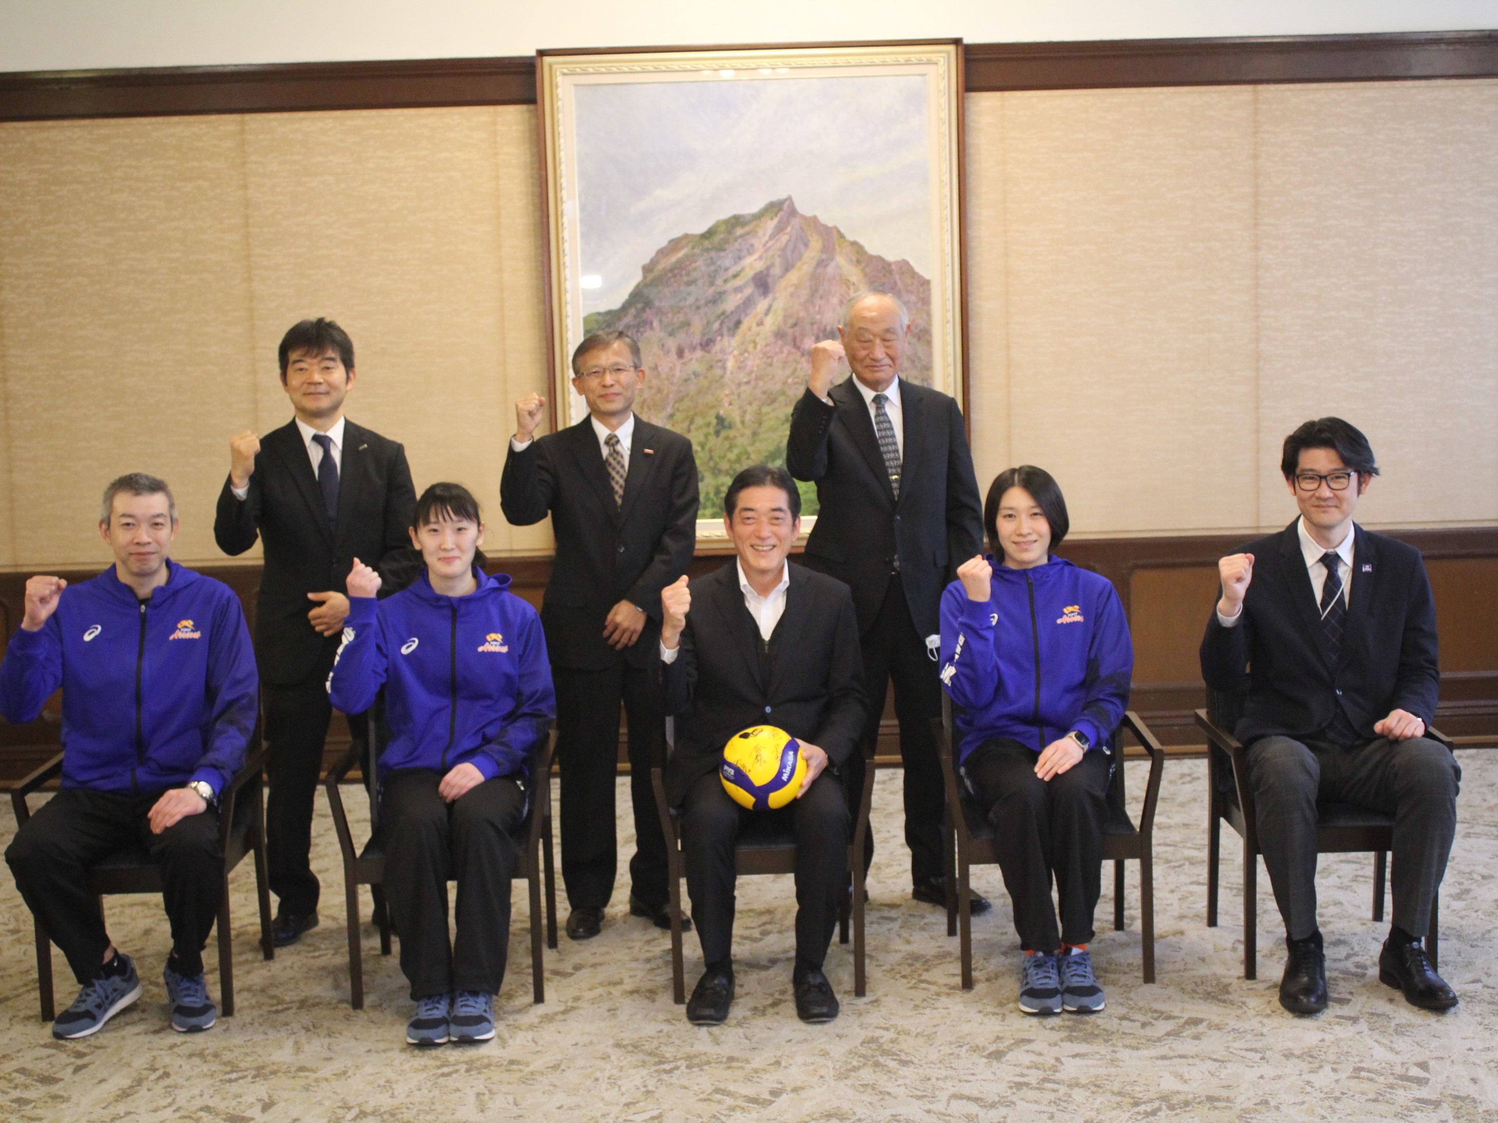
[[[646,668],[623,659],[607,671],[551,672],[557,693],[557,759],[562,765],[562,880],[574,909],[602,909],[614,894],[619,839],[614,777],[619,771],[619,704],[629,716],[629,797],[635,815],[631,892],[652,907],[667,903],[665,836],[650,788],[664,744],[665,702]]]

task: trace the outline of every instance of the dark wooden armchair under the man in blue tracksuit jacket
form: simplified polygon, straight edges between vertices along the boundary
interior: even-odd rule
[[[58,753],[34,773],[10,789],[10,807],[15,812],[16,830],[25,827],[31,810],[25,798],[40,789],[48,780],[61,776],[63,755]],[[244,767],[235,773],[229,786],[219,794],[219,846],[223,849],[223,892],[219,900],[219,997],[225,1017],[234,1017],[234,925],[229,919],[229,871],[247,855],[255,855],[255,888],[261,903],[261,951],[267,960],[276,958],[271,942],[271,889],[265,867],[265,747],[261,744],[261,726],[250,734],[249,753]],[[88,870],[88,891],[99,898],[99,915],[103,916],[106,895],[127,892],[162,892],[162,874],[144,846],[130,846],[112,853]],[[42,1021],[55,1017],[52,1005],[52,945],[33,918],[36,931],[36,988],[42,1000]]]

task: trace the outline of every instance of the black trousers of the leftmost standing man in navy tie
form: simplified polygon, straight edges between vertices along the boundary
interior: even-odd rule
[[[310,600],[307,603],[312,603]],[[262,687],[265,743],[265,850],[271,892],[282,909],[304,916],[318,909],[321,885],[312,871],[312,810],[322,779],[322,747],[328,740],[333,704],[328,672],[339,651],[337,638],[324,645],[318,666],[295,686]],[[349,731],[363,737],[364,714],[349,714]]]

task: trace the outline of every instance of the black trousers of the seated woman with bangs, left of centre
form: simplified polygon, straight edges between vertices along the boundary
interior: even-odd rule
[[[476,990],[499,994],[509,954],[511,837],[526,794],[508,777],[485,780],[452,803],[442,777],[403,768],[382,782],[385,900],[400,936],[400,969],[412,999]],[[448,939],[448,882],[458,883],[457,939]]]

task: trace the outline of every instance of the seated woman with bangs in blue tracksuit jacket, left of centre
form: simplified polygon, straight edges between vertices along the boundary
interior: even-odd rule
[[[380,686],[389,744],[379,761],[385,897],[416,1014],[412,1045],[494,1036],[494,994],[509,942],[512,836],[526,816],[533,750],[556,716],[541,617],[482,569],[478,502],[433,484],[410,530],[427,570],[376,602],[379,575],[358,559],[328,693],[367,710]],[[448,940],[448,880],[458,883]]]

